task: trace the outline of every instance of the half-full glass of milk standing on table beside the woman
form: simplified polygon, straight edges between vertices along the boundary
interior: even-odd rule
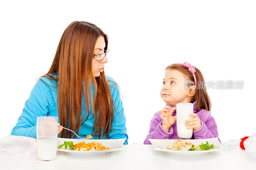
[[[57,153],[58,118],[54,116],[37,117],[36,143],[37,157],[42,160],[52,160]]]

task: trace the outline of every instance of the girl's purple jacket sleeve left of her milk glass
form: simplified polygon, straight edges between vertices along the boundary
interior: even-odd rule
[[[166,132],[162,127],[162,119],[160,116],[156,114],[153,116],[150,122],[149,132],[144,140],[144,144],[151,144],[148,139],[168,139],[169,136],[172,135],[173,129],[172,127],[169,129],[169,132]]]

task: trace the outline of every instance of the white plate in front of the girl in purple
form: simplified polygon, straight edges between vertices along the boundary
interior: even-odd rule
[[[152,144],[161,144],[161,145],[171,145],[173,143],[174,140],[177,139],[149,139],[149,141]],[[162,152],[166,152],[166,153],[170,153],[170,154],[174,154],[174,155],[203,155],[206,153],[210,153],[210,152],[215,152],[215,151],[220,151],[222,149],[226,149],[227,147],[223,146],[222,144],[220,144],[218,137],[214,137],[214,138],[208,138],[208,139],[184,139],[187,142],[191,142],[192,144],[202,144],[202,143],[206,143],[206,141],[208,141],[209,144],[214,144],[214,146],[216,146],[216,148],[208,150],[208,151],[172,151],[172,150],[167,150],[167,149],[159,149],[154,147],[153,150],[156,151],[162,151]]]

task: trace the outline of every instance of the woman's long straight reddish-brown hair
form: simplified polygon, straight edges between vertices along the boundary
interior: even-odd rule
[[[94,46],[100,36],[104,36],[106,51],[108,36],[99,27],[84,21],[72,22],[61,36],[50,70],[42,77],[58,82],[60,125],[78,134],[81,124],[88,120],[93,111],[92,135],[102,139],[105,134],[109,137],[114,118],[114,102],[105,72],[101,72],[99,77],[94,77],[92,73]],[[82,117],[84,109],[87,116]],[[62,130],[60,137],[75,136],[69,130]]]

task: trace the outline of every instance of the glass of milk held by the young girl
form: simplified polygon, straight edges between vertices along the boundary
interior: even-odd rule
[[[187,129],[185,121],[188,120],[189,114],[193,113],[193,103],[178,103],[176,105],[176,121],[177,121],[177,133],[180,139],[190,139],[193,134],[193,128]]]

